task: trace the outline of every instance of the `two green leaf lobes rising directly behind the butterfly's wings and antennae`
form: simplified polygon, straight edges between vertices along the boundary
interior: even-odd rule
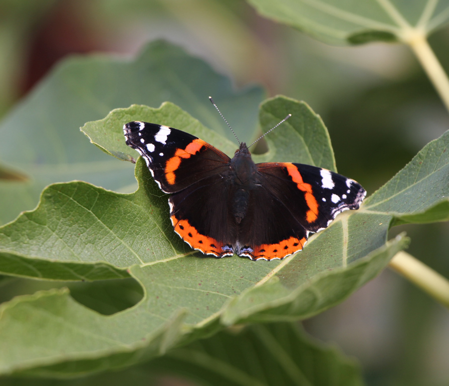
[[[292,116],[266,137],[269,151],[254,154],[254,160],[294,161],[336,170],[329,133],[321,118],[306,103],[283,96],[266,100],[260,107],[262,132],[273,128],[287,114]],[[86,123],[81,130],[92,143],[106,153],[130,161],[139,155],[123,140],[123,124],[130,121],[156,122],[182,129],[220,148],[229,156],[232,156],[237,148],[233,136],[232,140],[225,140],[222,135],[205,128],[199,121],[170,102],[164,103],[159,109],[138,105],[128,109],[116,109],[103,120]]]

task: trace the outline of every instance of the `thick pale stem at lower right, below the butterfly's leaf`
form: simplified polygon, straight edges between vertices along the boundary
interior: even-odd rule
[[[446,277],[404,251],[397,253],[389,265],[449,308],[449,280]]]

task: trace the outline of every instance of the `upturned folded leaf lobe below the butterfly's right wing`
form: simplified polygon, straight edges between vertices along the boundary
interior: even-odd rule
[[[324,241],[317,239],[313,245],[315,248],[307,252],[316,252],[320,242]],[[407,246],[408,239],[398,236],[347,267],[329,268],[328,271],[306,278],[296,273],[305,264],[298,260],[292,261],[289,266],[278,270],[274,279],[265,285],[248,288],[242,295],[232,299],[224,310],[222,320],[231,325],[311,317],[337,305],[376,277],[390,259]]]

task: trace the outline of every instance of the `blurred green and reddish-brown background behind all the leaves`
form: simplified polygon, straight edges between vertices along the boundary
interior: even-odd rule
[[[0,0],[0,116],[67,55],[132,57],[158,38],[204,58],[236,88],[258,83],[267,96],[307,102],[329,129],[339,172],[368,194],[449,129],[448,112],[407,47],[328,46],[241,0]],[[430,43],[448,72],[449,28]],[[449,225],[397,227],[392,237],[404,230],[408,252],[449,277]],[[17,280],[14,293],[34,286]],[[392,271],[304,325],[358,358],[368,385],[449,384],[447,310]]]

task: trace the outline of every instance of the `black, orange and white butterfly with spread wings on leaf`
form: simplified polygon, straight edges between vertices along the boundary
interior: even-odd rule
[[[327,169],[255,164],[245,143],[229,158],[167,126],[130,122],[123,131],[161,190],[171,194],[175,232],[206,255],[282,259],[302,250],[309,234],[339,213],[358,209],[366,195],[359,183]]]

